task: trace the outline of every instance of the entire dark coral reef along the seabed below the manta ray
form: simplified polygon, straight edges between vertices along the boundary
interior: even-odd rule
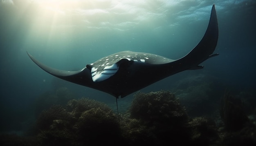
[[[169,91],[135,94],[130,109],[126,114],[120,115],[120,122],[112,109],[104,103],[88,98],[72,99],[65,105],[53,105],[42,111],[37,118],[32,137],[0,135],[0,144],[255,145],[256,126],[255,122],[252,122],[254,116],[250,116],[250,121],[242,106],[240,99],[226,93],[220,109],[224,124],[222,122],[216,127],[215,122],[209,118],[190,118],[179,99]],[[222,128],[222,125],[225,125],[225,128]]]

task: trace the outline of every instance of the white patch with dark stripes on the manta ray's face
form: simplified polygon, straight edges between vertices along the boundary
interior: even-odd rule
[[[117,64],[106,66],[103,68],[103,70],[102,69],[99,70],[99,68],[92,67],[91,69],[92,80],[93,82],[100,82],[100,81],[106,80],[112,75],[115,75],[118,69],[119,67],[117,66]]]

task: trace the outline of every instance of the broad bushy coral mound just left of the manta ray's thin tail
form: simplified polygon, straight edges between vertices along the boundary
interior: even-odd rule
[[[70,100],[65,108],[58,105],[43,111],[37,126],[43,145],[113,144],[112,138],[120,135],[112,110],[87,98]]]

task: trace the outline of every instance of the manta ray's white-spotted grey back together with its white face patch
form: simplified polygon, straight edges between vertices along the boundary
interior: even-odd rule
[[[119,70],[120,64],[131,65],[133,62],[145,64],[162,64],[173,62],[174,60],[164,58],[159,55],[132,51],[115,53],[88,64],[86,68],[91,70],[93,82],[101,82],[115,75]]]

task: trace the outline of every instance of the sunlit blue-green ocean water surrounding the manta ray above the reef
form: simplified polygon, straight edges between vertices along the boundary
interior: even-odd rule
[[[256,90],[254,0],[1,0],[1,133],[26,131],[36,119],[36,100],[59,87],[68,88],[76,98],[89,97],[116,110],[115,97],[49,75],[30,60],[27,52],[47,66],[70,71],[126,50],[176,60],[200,42],[212,4],[216,5],[219,26],[214,53],[220,55],[203,62],[204,69],[183,71],[141,89],[144,93],[176,93],[188,108],[197,105],[192,97],[192,102],[186,100],[191,86],[211,84],[210,93],[216,93],[216,98],[207,100],[207,106],[211,106],[211,100],[218,103],[225,89],[236,95]],[[208,95],[206,89],[201,91]],[[121,113],[128,109],[134,94],[118,99]],[[256,98],[253,92],[250,95]],[[191,115],[208,114],[200,111],[195,109]]]

